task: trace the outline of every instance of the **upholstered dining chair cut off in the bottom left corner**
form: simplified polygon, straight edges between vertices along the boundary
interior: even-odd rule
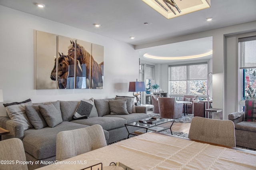
[[[0,160],[9,161],[8,164],[0,164],[1,170],[28,170],[27,164],[16,163],[16,161],[26,161],[24,146],[19,138],[0,141]]]

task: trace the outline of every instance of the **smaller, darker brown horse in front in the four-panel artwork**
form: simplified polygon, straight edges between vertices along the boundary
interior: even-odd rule
[[[67,78],[74,77],[74,59],[64,55],[63,53],[59,53],[59,55],[60,57],[58,58],[58,86],[60,89],[66,89]],[[82,77],[82,69],[80,67],[80,63],[79,61],[76,61],[76,63],[76,76]],[[50,78],[56,81],[56,59]]]

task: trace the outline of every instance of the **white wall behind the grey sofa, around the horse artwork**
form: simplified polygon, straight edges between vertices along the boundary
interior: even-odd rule
[[[0,89],[4,102],[103,99],[132,95],[129,81],[138,78],[138,55],[130,44],[0,6]],[[104,46],[104,89],[35,90],[33,30]],[[50,75],[49,75],[50,78]],[[6,111],[0,103],[0,116]]]

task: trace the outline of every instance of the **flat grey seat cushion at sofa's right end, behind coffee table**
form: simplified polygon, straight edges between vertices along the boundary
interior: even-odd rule
[[[141,119],[149,118],[150,116],[146,113],[132,113],[129,115],[105,115],[104,117],[118,117],[122,119],[126,119],[127,123],[132,123],[135,121],[139,121]]]

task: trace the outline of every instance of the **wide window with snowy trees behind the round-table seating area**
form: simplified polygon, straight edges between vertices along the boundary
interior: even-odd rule
[[[207,96],[207,63],[169,66],[169,91],[171,96]]]

